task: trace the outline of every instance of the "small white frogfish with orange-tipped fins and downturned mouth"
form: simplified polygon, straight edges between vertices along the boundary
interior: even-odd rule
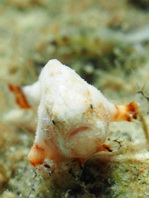
[[[85,161],[104,148],[110,122],[133,121],[139,112],[135,102],[109,102],[58,60],[50,60],[33,85],[20,89],[10,85],[10,90],[21,108],[39,105],[36,137],[28,156],[34,166],[47,159]]]

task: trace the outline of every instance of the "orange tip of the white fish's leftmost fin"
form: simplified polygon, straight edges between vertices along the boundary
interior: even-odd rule
[[[9,84],[8,88],[12,93],[14,93],[14,95],[16,97],[16,103],[19,105],[20,108],[22,108],[22,109],[31,108],[22,89],[19,86]]]

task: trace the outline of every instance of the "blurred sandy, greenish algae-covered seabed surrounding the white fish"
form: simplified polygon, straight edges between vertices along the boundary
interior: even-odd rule
[[[8,85],[29,85],[56,58],[115,104],[136,101],[149,124],[148,0],[0,1],[0,198],[145,198],[149,153],[144,125],[110,126],[101,154],[52,174],[32,167],[37,113],[22,110]],[[70,165],[71,166],[71,165]]]

